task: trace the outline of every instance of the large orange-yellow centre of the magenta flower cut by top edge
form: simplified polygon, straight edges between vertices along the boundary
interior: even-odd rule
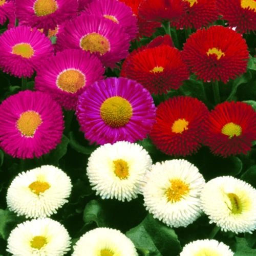
[[[58,9],[54,0],[36,0],[34,4],[35,15],[38,17],[47,16]]]

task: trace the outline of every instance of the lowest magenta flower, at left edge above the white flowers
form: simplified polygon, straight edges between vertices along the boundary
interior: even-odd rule
[[[61,107],[47,94],[22,91],[0,105],[0,146],[13,157],[33,158],[60,143]]]

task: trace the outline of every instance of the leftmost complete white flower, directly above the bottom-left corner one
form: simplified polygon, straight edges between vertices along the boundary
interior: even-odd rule
[[[43,165],[19,174],[7,191],[7,205],[26,218],[49,217],[68,202],[71,180],[57,167]]]

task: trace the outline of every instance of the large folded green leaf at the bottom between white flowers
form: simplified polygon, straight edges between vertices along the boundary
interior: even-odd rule
[[[181,252],[180,241],[174,229],[167,227],[162,222],[148,214],[135,228],[126,232],[136,248],[149,251],[149,255],[179,255]]]

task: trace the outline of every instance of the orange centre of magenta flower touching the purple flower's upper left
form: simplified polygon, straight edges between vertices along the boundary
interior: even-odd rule
[[[86,79],[78,70],[69,69],[58,75],[57,86],[62,91],[75,93],[86,84]]]

